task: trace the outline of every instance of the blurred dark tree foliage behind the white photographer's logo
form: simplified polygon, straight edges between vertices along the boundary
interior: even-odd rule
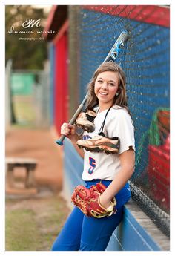
[[[39,27],[22,27],[22,23],[29,19],[40,20]],[[37,31],[44,31],[46,19],[42,8],[36,9],[32,5],[5,6],[5,61],[7,63],[8,59],[12,59],[13,69],[43,68],[47,59],[47,42],[44,35]],[[9,33],[12,27],[17,33]]]

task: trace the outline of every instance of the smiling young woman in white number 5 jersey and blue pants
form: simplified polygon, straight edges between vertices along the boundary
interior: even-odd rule
[[[116,197],[117,211],[110,217],[99,219],[87,217],[75,207],[53,243],[53,251],[105,251],[113,231],[122,220],[123,206],[131,197],[128,180],[134,171],[135,145],[133,123],[127,107],[125,73],[116,63],[103,63],[93,74],[87,89],[87,109],[96,110],[95,130],[85,131],[83,140],[79,140],[75,125],[64,123],[61,134],[69,138],[84,157],[82,179],[86,187],[103,183],[107,188],[100,196],[100,203],[108,208],[110,200]],[[120,146],[113,152],[116,148],[113,138],[116,137],[119,137]],[[99,148],[99,151],[94,148]]]

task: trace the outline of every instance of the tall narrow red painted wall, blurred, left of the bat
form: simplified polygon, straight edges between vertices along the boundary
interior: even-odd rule
[[[55,43],[55,90],[54,90],[54,125],[60,134],[60,127],[67,122],[67,32]]]

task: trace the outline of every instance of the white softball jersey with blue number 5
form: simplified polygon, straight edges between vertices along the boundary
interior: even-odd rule
[[[92,133],[83,134],[83,139],[93,138],[98,135],[102,122],[105,119],[105,114],[108,109],[98,113],[94,119],[95,131]],[[135,150],[134,128],[131,116],[125,108],[113,106],[110,108],[105,119],[103,132],[107,137],[119,137],[120,148],[119,154],[127,151],[130,147]],[[85,151],[85,150],[84,150]],[[105,154],[103,152],[85,151],[84,170],[82,180],[113,180],[116,173],[120,170],[119,154]]]

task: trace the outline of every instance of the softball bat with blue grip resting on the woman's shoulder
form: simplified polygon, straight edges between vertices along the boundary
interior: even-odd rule
[[[116,42],[114,43],[110,52],[108,53],[108,56],[106,56],[104,62],[115,62],[117,56],[124,48],[127,40],[128,40],[128,33],[125,31],[122,31],[122,33],[119,35],[118,39],[116,39]],[[73,115],[72,119],[70,119],[70,122],[69,122],[70,125],[73,125],[74,122],[76,122],[76,119],[79,116],[79,114],[82,112],[82,108],[84,107],[86,101],[87,101],[87,94],[86,94],[85,98],[83,99],[82,103],[79,105],[79,108],[77,108],[76,113]],[[59,138],[59,140],[56,140],[56,143],[58,145],[63,145],[63,140],[65,140],[65,135],[62,135]]]

